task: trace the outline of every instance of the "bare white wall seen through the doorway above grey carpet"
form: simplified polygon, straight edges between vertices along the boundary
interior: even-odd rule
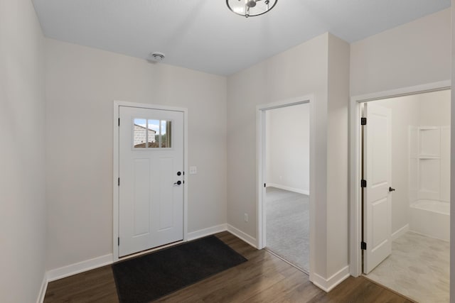
[[[309,194],[309,104],[266,111],[267,186]]]

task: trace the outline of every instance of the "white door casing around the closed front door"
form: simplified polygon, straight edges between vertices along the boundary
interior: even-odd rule
[[[188,172],[188,109],[183,107],[164,106],[157,104],[142,104],[129,101],[114,100],[114,119],[112,127],[114,130],[113,137],[113,170],[112,170],[112,261],[117,262],[120,259],[129,258],[125,256],[119,258],[119,110],[120,106],[137,107],[141,109],[158,109],[162,111],[180,111],[183,112],[183,172]],[[183,174],[183,242],[188,240],[188,174]],[[180,242],[178,242],[180,243]],[[161,248],[161,247],[160,247]],[[153,250],[153,249],[151,249]],[[146,250],[149,252],[150,250]],[[145,252],[144,252],[145,253]]]

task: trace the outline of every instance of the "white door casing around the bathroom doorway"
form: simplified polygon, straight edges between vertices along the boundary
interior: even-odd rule
[[[389,91],[363,94],[350,98],[349,104],[349,272],[353,277],[362,274],[362,241],[361,224],[361,188],[360,188],[360,169],[361,169],[361,146],[360,146],[360,104],[368,101],[380,99],[390,99],[405,97],[412,94],[423,94],[440,90],[451,89],[451,81],[432,82],[428,84],[416,85],[413,87],[402,87]]]

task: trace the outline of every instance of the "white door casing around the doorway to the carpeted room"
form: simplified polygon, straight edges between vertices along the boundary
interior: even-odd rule
[[[256,218],[257,218],[257,248],[262,249],[265,246],[265,208],[263,207],[264,199],[264,182],[265,177],[265,114],[267,110],[270,109],[279,109],[282,107],[299,105],[299,104],[309,104],[309,128],[310,128],[310,172],[309,172],[309,183],[310,183],[310,195],[309,195],[309,280],[313,281],[314,275],[314,265],[315,265],[315,246],[314,242],[316,240],[314,232],[316,231],[316,221],[314,220],[315,212],[315,180],[316,180],[316,146],[314,141],[315,137],[315,114],[314,114],[314,94],[309,94],[306,96],[296,97],[292,99],[285,99],[281,101],[272,102],[269,104],[260,104],[256,106],[256,155],[257,155],[257,190],[256,190]]]

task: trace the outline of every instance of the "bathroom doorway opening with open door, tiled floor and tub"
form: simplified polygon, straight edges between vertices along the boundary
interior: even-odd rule
[[[449,302],[450,97],[362,104],[363,272],[417,302]]]

